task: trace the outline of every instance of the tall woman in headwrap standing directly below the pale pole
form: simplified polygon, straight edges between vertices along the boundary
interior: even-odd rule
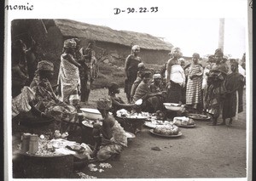
[[[218,116],[223,107],[224,94],[224,79],[227,76],[228,70],[222,63],[223,52],[221,49],[215,51],[214,57],[216,64],[212,65],[212,70],[209,72],[207,79],[207,93],[206,93],[206,111],[212,116],[212,126],[217,125]]]

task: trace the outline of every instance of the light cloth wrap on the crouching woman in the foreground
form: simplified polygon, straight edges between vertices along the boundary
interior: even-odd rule
[[[99,161],[105,161],[114,154],[120,154],[121,150],[127,147],[125,130],[116,120],[114,120],[114,125],[111,128],[111,131],[113,135],[113,138],[110,139],[111,144],[109,144],[109,139],[102,138],[102,145],[100,150],[97,152],[97,159]],[[108,142],[106,145],[104,144],[105,140]]]

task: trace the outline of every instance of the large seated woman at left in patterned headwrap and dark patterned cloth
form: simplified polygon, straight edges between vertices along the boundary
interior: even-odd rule
[[[55,95],[49,83],[53,70],[54,65],[51,62],[46,60],[38,62],[36,76],[30,85],[32,92],[35,93],[33,104],[44,115],[54,117],[56,123],[61,123],[61,127],[58,127],[61,131],[67,131],[64,122],[78,122],[77,110],[73,105],[61,102]]]

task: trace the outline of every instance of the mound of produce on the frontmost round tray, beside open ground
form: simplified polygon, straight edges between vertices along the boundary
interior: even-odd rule
[[[154,128],[154,133],[162,135],[177,135],[179,133],[179,128],[174,124],[158,125]]]

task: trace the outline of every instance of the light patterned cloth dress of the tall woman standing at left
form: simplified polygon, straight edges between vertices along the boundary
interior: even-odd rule
[[[61,54],[61,64],[58,76],[59,99],[71,104],[71,99],[79,99],[79,67],[70,63],[67,59],[73,59],[71,54]]]

